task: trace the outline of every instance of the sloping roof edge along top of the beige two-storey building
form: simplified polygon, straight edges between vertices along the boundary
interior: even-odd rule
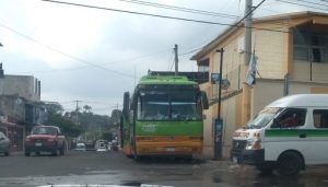
[[[285,13],[285,14],[278,14],[278,15],[270,15],[270,16],[254,19],[254,23],[271,22],[271,21],[277,21],[277,20],[282,20],[282,19],[295,19],[295,17],[302,17],[302,16],[308,16],[308,15],[328,16],[328,13],[312,12],[312,11]],[[235,22],[235,23],[237,23],[237,22]],[[243,25],[244,25],[244,22],[239,23],[236,26],[231,26],[231,27],[227,27],[226,30],[224,30],[220,35],[218,35],[209,44],[204,45],[201,50],[196,52],[190,58],[190,60],[197,60],[197,59],[202,58],[206,54],[208,54],[210,50],[215,48],[226,36],[238,31]]]

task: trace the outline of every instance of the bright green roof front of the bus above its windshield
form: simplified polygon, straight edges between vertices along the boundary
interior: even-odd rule
[[[189,81],[184,75],[144,75],[140,79],[139,84],[197,84],[194,81]]]

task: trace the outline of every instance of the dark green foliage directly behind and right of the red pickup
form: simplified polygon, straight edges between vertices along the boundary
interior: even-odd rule
[[[49,114],[46,125],[58,126],[67,137],[78,137],[83,132],[83,129],[80,126],[71,122],[70,119],[60,114]]]

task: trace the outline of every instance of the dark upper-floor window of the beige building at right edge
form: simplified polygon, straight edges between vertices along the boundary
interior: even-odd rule
[[[328,62],[328,35],[294,31],[294,60]]]

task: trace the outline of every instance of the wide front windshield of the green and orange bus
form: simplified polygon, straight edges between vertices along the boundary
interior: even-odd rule
[[[200,96],[197,96],[196,90],[141,91],[138,119],[201,120]]]

